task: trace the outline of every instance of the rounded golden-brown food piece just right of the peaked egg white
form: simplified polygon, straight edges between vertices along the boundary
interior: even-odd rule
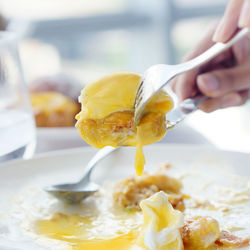
[[[220,236],[218,222],[210,217],[197,217],[185,221],[181,230],[185,250],[217,249],[216,240]]]

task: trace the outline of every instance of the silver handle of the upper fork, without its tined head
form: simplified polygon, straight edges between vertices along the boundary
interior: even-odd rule
[[[206,50],[201,55],[195,57],[194,59],[187,61],[185,63],[180,64],[181,72],[186,72],[188,70],[194,69],[198,66],[201,66],[220,53],[224,52],[225,50],[229,49],[232,45],[234,45],[236,42],[241,40],[243,37],[245,37],[250,32],[249,28],[244,28],[239,30],[228,42],[226,43],[216,43],[213,45],[210,49]]]

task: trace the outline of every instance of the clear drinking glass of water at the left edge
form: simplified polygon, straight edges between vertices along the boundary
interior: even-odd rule
[[[0,32],[0,162],[30,158],[35,150],[35,123],[24,82],[18,39]]]

